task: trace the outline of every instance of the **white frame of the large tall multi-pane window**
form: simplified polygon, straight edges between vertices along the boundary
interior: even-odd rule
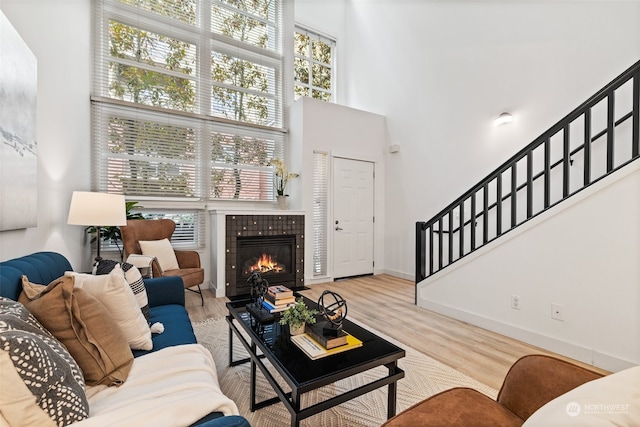
[[[197,6],[196,21],[191,25],[186,22],[179,22],[167,16],[156,15],[145,9],[138,9],[134,5],[122,3],[119,0],[96,0],[95,4],[95,52],[94,52],[94,85],[92,103],[92,165],[93,165],[93,181],[92,187],[97,191],[119,192],[124,193],[129,198],[152,199],[152,200],[181,200],[181,201],[213,201],[213,200],[232,200],[232,201],[273,201],[275,194],[272,185],[258,185],[256,180],[263,181],[269,177],[269,183],[272,182],[273,167],[269,166],[269,161],[274,158],[285,159],[287,144],[287,129],[284,127],[286,123],[287,103],[289,91],[286,88],[290,85],[284,83],[287,78],[292,78],[291,73],[286,72],[287,64],[291,62],[292,55],[287,55],[283,40],[283,34],[287,34],[287,21],[289,15],[292,15],[291,6],[285,0],[276,0],[276,27],[269,29],[269,36],[274,39],[270,42],[273,49],[263,48],[250,44],[244,44],[231,37],[215,34],[205,28],[212,28],[212,20],[214,20],[212,8],[220,7],[224,9],[233,9],[231,6],[221,0],[195,0]],[[198,15],[203,10],[208,11],[205,14]],[[132,12],[133,11],[133,12]],[[153,32],[167,38],[175,38],[180,42],[190,43],[194,46],[196,61],[193,64],[191,75],[180,74],[179,71],[165,70],[161,67],[162,63],[145,64],[136,62],[126,58],[115,57],[110,54],[110,23],[116,21],[124,25],[133,27],[143,32]],[[292,27],[292,24],[291,24]],[[167,29],[170,28],[170,29]],[[271,40],[271,39],[270,39]],[[267,46],[269,47],[269,46]],[[252,61],[252,63],[260,66],[269,67],[264,78],[268,78],[268,92],[264,95],[259,90],[233,86],[225,82],[216,82],[212,76],[214,65],[212,60],[214,52],[223,55],[232,55],[242,61]],[[147,52],[149,53],[149,52]],[[193,99],[193,108],[190,111],[167,108],[166,106],[149,105],[147,103],[134,103],[126,99],[119,99],[117,94],[113,95],[109,89],[110,64],[112,62],[126,64],[147,71],[155,71],[160,75],[168,75],[171,77],[180,77],[188,81],[195,82],[195,95]],[[287,77],[289,75],[289,77]],[[239,93],[262,96],[266,103],[269,103],[266,118],[264,122],[256,120],[240,121],[235,118],[222,117],[222,115],[214,115],[215,98],[212,93],[214,87],[222,87],[224,90],[237,90]],[[162,89],[162,88],[161,88]],[[166,88],[163,88],[166,90]],[[262,94],[262,95],[261,95]],[[242,98],[242,97],[241,97]],[[192,160],[193,171],[188,175],[188,180],[193,181],[193,191],[189,191],[184,187],[180,194],[164,193],[163,189],[149,189],[149,194],[128,194],[123,188],[118,188],[110,184],[110,174],[113,173],[107,167],[109,161],[109,119],[108,114],[114,111],[122,112],[123,116],[136,116],[141,120],[149,120],[150,117],[166,117],[167,123],[171,119],[177,122],[189,121],[193,124],[195,142],[194,142],[194,158]],[[113,116],[115,117],[115,116]],[[162,125],[161,122],[157,123]],[[139,126],[142,128],[143,126]],[[186,128],[185,128],[186,129]],[[235,191],[216,192],[214,191],[214,176],[216,166],[220,165],[220,158],[214,158],[216,151],[214,134],[216,132],[230,132],[239,139],[233,139],[234,143],[239,147],[248,146],[246,141],[254,141],[255,150],[260,147],[267,147],[260,156],[258,164],[238,163],[237,158],[233,162],[226,161],[223,167],[231,169],[234,175],[246,176],[245,183],[250,183],[256,189],[245,192],[249,194]],[[271,141],[270,145],[262,142],[263,137],[266,141]],[[129,140],[137,140],[136,135],[123,136]],[[236,142],[239,141],[239,142]],[[171,144],[170,141],[163,142]],[[159,142],[160,144],[160,142]],[[265,145],[266,144],[266,145]],[[240,148],[237,148],[240,149]],[[113,153],[111,153],[113,154]],[[135,157],[136,152],[133,151],[131,158],[121,160],[122,164],[129,165]],[[113,157],[113,156],[112,156]],[[126,156],[123,156],[126,157]],[[144,159],[149,164],[155,160],[149,158]],[[175,160],[175,159],[170,159]],[[255,160],[255,159],[254,159]],[[177,160],[176,160],[177,161]],[[286,159],[285,159],[286,161]],[[151,168],[151,166],[149,166]],[[226,179],[226,178],[225,178]],[[152,186],[151,179],[147,179],[149,187]],[[122,182],[122,180],[121,180]],[[229,181],[231,182],[231,181]],[[141,186],[146,185],[141,182]],[[236,184],[237,185],[237,184]],[[240,185],[243,185],[242,179]],[[233,183],[228,184],[230,188]],[[253,188],[253,187],[252,187]],[[145,187],[146,189],[146,187]],[[153,191],[151,191],[153,190]],[[157,190],[157,191],[156,191]],[[178,191],[178,190],[176,190]],[[258,196],[255,196],[258,191]],[[232,194],[229,196],[228,194]]]

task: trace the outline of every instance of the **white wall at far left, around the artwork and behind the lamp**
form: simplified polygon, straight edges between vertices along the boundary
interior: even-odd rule
[[[0,260],[51,250],[86,270],[83,227],[66,223],[71,193],[90,188],[91,1],[2,0],[0,10],[38,61],[38,226],[0,232]]]

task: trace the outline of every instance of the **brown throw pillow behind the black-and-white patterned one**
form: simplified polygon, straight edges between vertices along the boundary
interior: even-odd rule
[[[125,382],[133,354],[109,311],[72,276],[51,282],[27,309],[64,344],[78,362],[87,385]]]

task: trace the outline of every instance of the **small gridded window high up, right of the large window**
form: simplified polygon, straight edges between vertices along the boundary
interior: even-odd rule
[[[296,26],[294,94],[332,101],[335,40]]]

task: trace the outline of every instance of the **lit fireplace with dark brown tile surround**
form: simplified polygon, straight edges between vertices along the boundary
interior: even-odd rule
[[[304,288],[304,215],[226,215],[226,295],[249,295],[259,269],[269,285]]]

